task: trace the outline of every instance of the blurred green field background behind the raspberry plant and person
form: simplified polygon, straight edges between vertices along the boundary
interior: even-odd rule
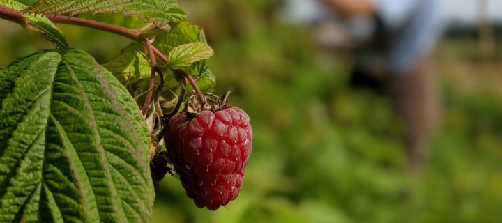
[[[229,206],[198,209],[166,176],[153,222],[500,222],[502,1],[438,1],[443,32],[430,60],[441,118],[413,171],[392,97],[350,84],[353,45],[371,28],[307,1],[180,1],[215,49],[217,93],[233,89],[231,103],[251,117],[254,151]],[[17,24],[0,27],[0,68],[52,47]],[[130,43],[59,27],[102,63]]]

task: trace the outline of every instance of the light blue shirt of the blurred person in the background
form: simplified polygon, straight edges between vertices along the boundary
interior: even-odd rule
[[[401,74],[429,54],[441,30],[437,0],[373,0],[390,32],[386,55],[391,72]]]

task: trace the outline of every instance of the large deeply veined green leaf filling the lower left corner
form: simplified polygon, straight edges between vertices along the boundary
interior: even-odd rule
[[[0,222],[149,222],[150,137],[134,100],[85,52],[0,71]]]

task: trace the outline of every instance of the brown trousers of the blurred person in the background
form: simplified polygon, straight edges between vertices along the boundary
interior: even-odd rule
[[[409,168],[418,169],[429,153],[430,139],[441,116],[439,86],[429,58],[421,59],[409,73],[391,79],[391,97],[406,124]]]

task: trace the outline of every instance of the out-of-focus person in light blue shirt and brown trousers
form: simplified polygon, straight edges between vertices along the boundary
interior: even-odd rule
[[[409,169],[418,169],[427,156],[440,110],[431,58],[441,28],[436,0],[291,2],[301,2],[302,8],[315,12],[313,20],[326,18],[326,11],[332,10],[347,21],[363,17],[374,24],[373,29],[365,27],[372,31],[363,41],[352,37],[358,43],[352,47],[350,84],[389,93],[406,125]]]

